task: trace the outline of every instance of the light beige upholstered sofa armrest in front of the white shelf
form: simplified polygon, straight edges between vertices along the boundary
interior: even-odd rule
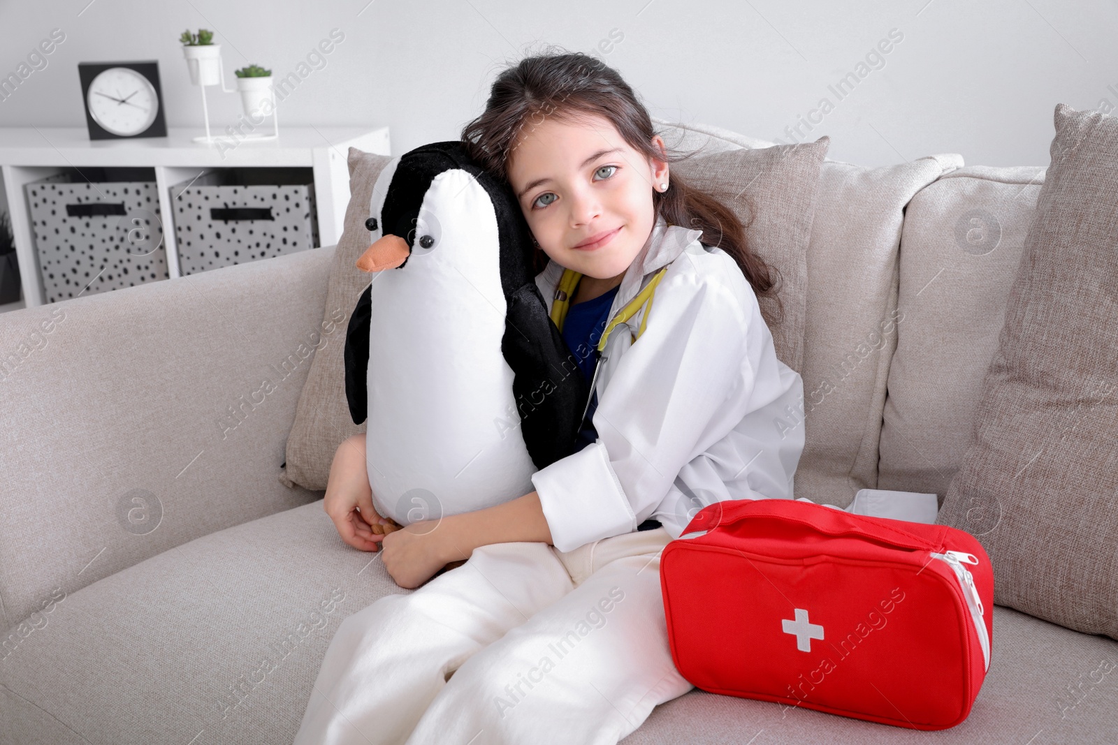
[[[333,254],[0,314],[3,628],[322,496],[278,476],[314,352],[344,342],[344,326],[323,324]]]

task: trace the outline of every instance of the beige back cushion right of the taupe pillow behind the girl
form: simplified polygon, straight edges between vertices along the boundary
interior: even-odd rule
[[[796,497],[845,507],[859,489],[878,488],[904,207],[961,165],[955,154],[880,168],[823,164],[807,252],[807,438]]]

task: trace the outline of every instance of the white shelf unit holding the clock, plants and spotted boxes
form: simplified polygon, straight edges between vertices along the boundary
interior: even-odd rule
[[[180,277],[170,188],[229,168],[310,168],[314,176],[319,243],[341,238],[349,203],[349,147],[390,155],[388,127],[284,127],[280,139],[217,147],[193,142],[201,130],[169,128],[165,137],[91,141],[85,127],[0,127],[0,171],[16,238],[23,300],[0,312],[44,304],[35,236],[23,184],[82,168],[154,168],[168,273]],[[230,140],[231,143],[231,140]]]

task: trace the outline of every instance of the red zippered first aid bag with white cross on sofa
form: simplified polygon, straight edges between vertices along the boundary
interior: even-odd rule
[[[675,667],[714,694],[945,729],[989,668],[994,573],[947,525],[717,502],[664,546],[660,582]]]

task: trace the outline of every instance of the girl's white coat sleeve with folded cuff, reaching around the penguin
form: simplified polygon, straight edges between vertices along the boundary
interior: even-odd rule
[[[532,476],[556,548],[635,531],[680,469],[741,420],[754,384],[751,315],[709,276],[661,283],[644,334],[599,391],[597,441]]]

